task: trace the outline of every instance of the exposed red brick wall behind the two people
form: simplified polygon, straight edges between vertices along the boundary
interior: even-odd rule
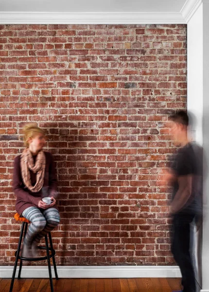
[[[174,263],[157,177],[186,58],[186,25],[0,25],[0,265],[14,261],[13,160],[34,121],[57,165],[57,262]]]

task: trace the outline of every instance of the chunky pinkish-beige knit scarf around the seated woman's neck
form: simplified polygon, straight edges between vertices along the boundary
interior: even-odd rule
[[[25,186],[33,193],[39,192],[44,184],[45,166],[46,157],[43,150],[38,152],[35,164],[29,148],[26,148],[22,152],[20,159],[22,180]],[[31,175],[29,169],[33,171],[33,173],[36,173],[36,183],[34,186],[31,184]]]

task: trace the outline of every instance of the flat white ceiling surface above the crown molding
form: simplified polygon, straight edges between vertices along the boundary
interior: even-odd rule
[[[180,12],[187,0],[0,0],[0,11]]]

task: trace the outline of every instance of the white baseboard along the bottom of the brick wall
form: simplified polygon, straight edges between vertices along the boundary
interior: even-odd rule
[[[24,265],[24,263],[23,263]],[[19,267],[17,267],[16,277]],[[0,278],[11,278],[13,266],[0,266]],[[57,266],[59,278],[179,278],[177,266]],[[54,271],[52,268],[52,276]],[[47,266],[23,266],[22,278],[48,278]],[[204,290],[206,291],[206,290]]]

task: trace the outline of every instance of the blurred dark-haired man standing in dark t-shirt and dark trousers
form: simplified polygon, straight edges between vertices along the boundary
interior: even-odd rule
[[[202,151],[188,139],[189,117],[179,111],[170,117],[171,134],[179,149],[166,179],[173,183],[172,253],[182,274],[183,292],[196,292],[194,270],[190,254],[191,223],[201,217]]]

